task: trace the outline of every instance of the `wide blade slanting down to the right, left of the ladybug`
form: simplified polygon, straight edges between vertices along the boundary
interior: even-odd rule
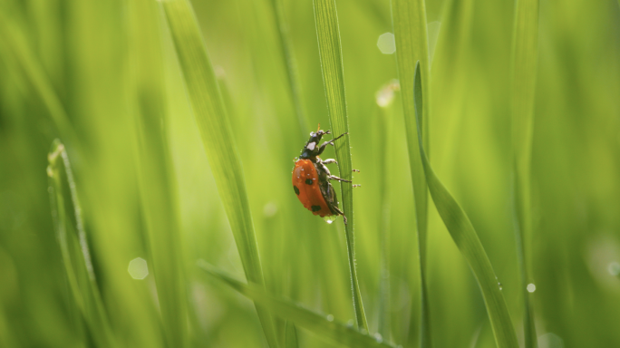
[[[199,125],[200,138],[235,237],[247,280],[262,286],[265,281],[241,160],[230,131],[218,82],[200,34],[198,20],[188,0],[164,1],[162,5],[179,57],[189,102]],[[260,306],[257,306],[257,314],[267,343],[272,348],[277,347],[271,316]]]

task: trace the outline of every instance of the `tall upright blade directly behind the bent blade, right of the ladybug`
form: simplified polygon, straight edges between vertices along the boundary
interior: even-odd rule
[[[409,150],[409,165],[412,172],[413,196],[415,201],[415,218],[418,234],[418,253],[420,257],[420,301],[421,301],[421,329],[420,345],[422,348],[432,346],[431,314],[429,313],[428,285],[426,280],[426,233],[428,228],[428,194],[426,179],[421,167],[420,151],[418,150],[418,132],[415,131],[415,106],[408,96],[413,94],[413,78],[416,62],[421,62],[424,76],[422,84],[425,91],[429,88],[429,44],[426,24],[426,9],[423,0],[407,1],[392,0],[392,25],[394,40],[396,41],[396,63],[398,66],[398,78],[402,91],[402,114],[405,119],[407,144]],[[423,142],[429,144],[428,115],[429,97],[424,96],[422,111]],[[421,136],[421,135],[420,135]],[[416,295],[417,296],[417,295]],[[412,315],[414,312],[412,311]],[[411,320],[410,323],[417,321]],[[413,342],[414,328],[410,328],[407,338],[408,346],[416,346]]]

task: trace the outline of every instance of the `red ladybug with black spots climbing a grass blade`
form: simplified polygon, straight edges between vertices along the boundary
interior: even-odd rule
[[[351,181],[332,175],[325,165],[336,163],[336,161],[334,159],[321,160],[319,155],[323,153],[327,145],[334,146],[335,140],[344,137],[348,133],[325,141],[319,146],[319,141],[321,141],[321,137],[325,134],[331,134],[331,131],[321,131],[320,124],[316,132],[310,133],[310,139],[305,143],[301,155],[295,161],[293,189],[299,201],[306,209],[312,211],[314,215],[318,215],[321,218],[342,215],[344,224],[346,224],[346,217],[343,211],[338,208],[338,198],[336,198],[334,187],[332,187],[329,180]]]

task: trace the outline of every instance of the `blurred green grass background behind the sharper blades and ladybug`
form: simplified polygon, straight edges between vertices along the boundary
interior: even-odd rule
[[[302,112],[295,111],[272,2],[192,5],[226,103],[230,142],[243,165],[266,288],[346,323],[354,311],[342,220],[328,225],[310,214],[290,184],[293,159],[308,131],[319,122],[323,129],[329,124],[312,1],[282,3]],[[515,6],[460,4],[426,3],[431,164],[476,228],[522,341],[511,207]],[[375,99],[397,77],[393,54],[376,45],[379,35],[392,31],[390,2],[336,5],[353,167],[361,170],[354,175],[362,184],[354,192],[354,210],[364,309],[371,333],[387,325],[383,339],[404,344],[419,335],[409,328],[420,326],[409,323],[420,317],[411,315],[420,311],[419,301],[412,301],[420,275],[399,100],[412,96],[397,95],[386,108]],[[462,22],[450,22],[463,18],[460,11],[472,16],[466,32]],[[149,23],[149,30],[136,30],[139,21]],[[528,250],[538,343],[618,346],[620,6],[615,0],[542,1],[538,29]],[[136,105],[144,102],[145,85],[154,91],[147,101],[157,99],[148,105],[160,113],[161,129],[157,124],[154,129],[163,136],[149,133],[156,146],[139,152],[136,120],[148,108]],[[150,189],[173,195],[150,204],[158,214],[169,213],[163,219],[176,226],[170,236],[179,243],[178,278],[184,284],[170,286],[179,286],[175,301],[187,305],[188,317],[187,333],[179,334],[197,347],[266,346],[252,303],[196,266],[203,258],[237,278],[244,275],[185,88],[165,16],[154,1],[0,0],[0,346],[98,342],[92,333],[97,326],[78,315],[54,232],[46,167],[57,138],[72,162],[93,270],[116,343],[174,346],[153,277],[158,269],[152,257],[159,256],[150,247],[166,240],[151,240],[160,235],[148,232],[154,210],[145,214],[140,194],[145,187],[140,166],[163,151],[170,159],[153,166],[170,160],[166,173],[148,183],[160,180],[167,187]],[[478,285],[435,208],[429,210],[432,341],[436,347],[493,347]],[[380,286],[382,240],[389,296]],[[143,280],[128,273],[136,257],[150,267]],[[284,342],[286,325],[276,324]],[[327,344],[299,327],[296,336],[302,347]]]

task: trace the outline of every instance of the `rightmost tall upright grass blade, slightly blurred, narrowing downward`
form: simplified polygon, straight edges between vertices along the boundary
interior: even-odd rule
[[[531,154],[534,123],[534,98],[538,65],[538,0],[517,0],[512,36],[511,62],[513,207],[518,264],[523,295],[525,347],[538,346],[534,309],[527,286],[530,282],[529,247],[531,246]]]

